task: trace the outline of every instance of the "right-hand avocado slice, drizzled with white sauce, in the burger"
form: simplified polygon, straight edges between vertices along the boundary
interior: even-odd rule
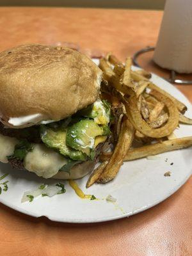
[[[66,143],[68,146],[81,150],[90,156],[94,148],[95,137],[104,133],[102,127],[93,120],[81,120],[67,129]]]

